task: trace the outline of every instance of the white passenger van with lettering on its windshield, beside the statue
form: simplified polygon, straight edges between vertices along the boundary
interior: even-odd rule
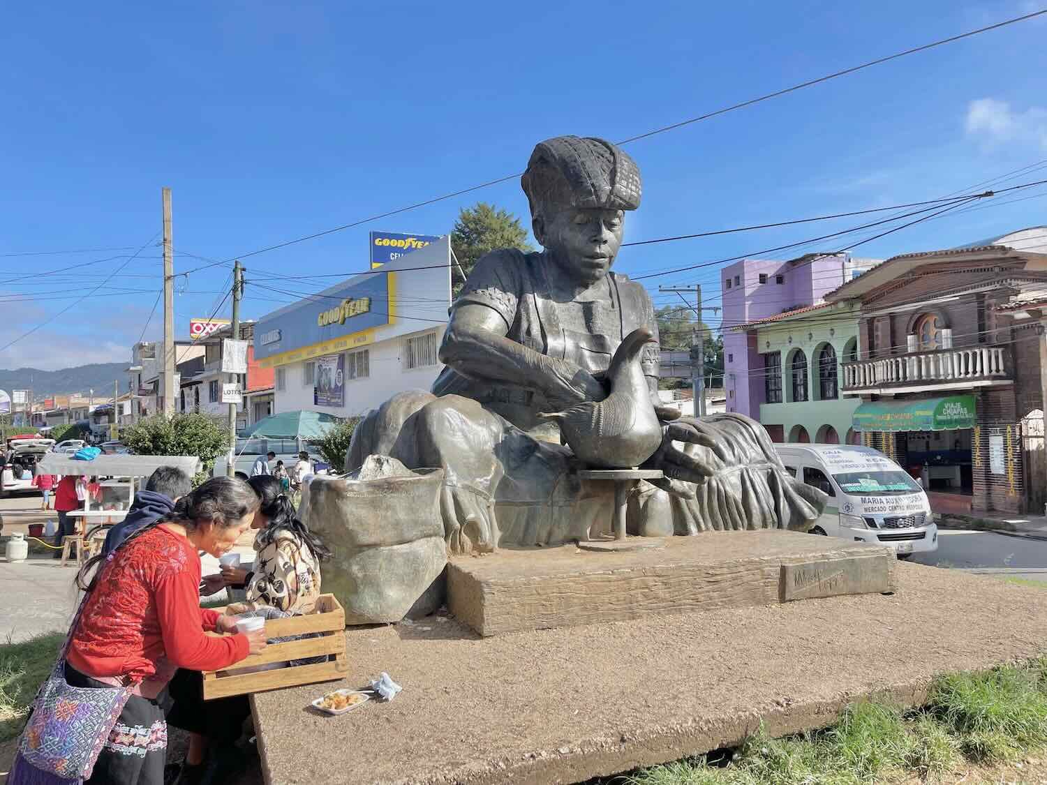
[[[785,469],[829,494],[812,534],[892,545],[899,559],[938,550],[938,526],[920,485],[871,447],[775,445]]]

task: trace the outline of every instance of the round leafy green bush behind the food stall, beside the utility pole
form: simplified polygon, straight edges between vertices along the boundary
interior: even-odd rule
[[[156,414],[129,427],[124,444],[138,455],[195,455],[202,465],[193,478],[198,486],[210,476],[215,458],[229,448],[229,429],[207,414]]]

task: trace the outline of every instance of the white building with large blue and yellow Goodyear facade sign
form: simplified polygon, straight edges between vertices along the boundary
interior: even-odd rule
[[[273,413],[363,414],[429,389],[450,305],[450,240],[441,238],[259,319],[254,359],[274,368]]]

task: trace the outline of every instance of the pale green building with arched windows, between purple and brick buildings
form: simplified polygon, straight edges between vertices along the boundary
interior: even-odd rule
[[[841,369],[857,359],[857,305],[818,302],[732,329],[745,334],[750,357],[759,355],[749,373],[762,384],[750,388],[773,441],[862,444],[853,428],[862,401],[843,395]]]

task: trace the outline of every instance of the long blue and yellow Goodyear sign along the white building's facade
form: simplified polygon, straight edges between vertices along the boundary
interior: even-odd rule
[[[254,359],[273,367],[371,343],[395,320],[395,272],[365,273],[269,314],[254,328]]]

